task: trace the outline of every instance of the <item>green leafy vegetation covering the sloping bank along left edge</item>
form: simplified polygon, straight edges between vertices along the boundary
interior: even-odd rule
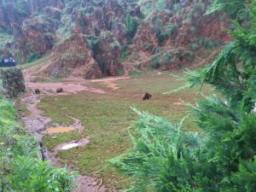
[[[3,90],[0,86],[0,93]],[[22,127],[13,102],[0,94],[0,191],[70,191],[74,174],[41,160],[38,141]]]

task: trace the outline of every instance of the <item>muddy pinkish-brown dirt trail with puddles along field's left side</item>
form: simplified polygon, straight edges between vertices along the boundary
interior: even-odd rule
[[[46,63],[47,65],[47,63]],[[79,78],[70,78],[66,79],[65,82],[58,83],[34,83],[33,79],[37,76],[35,72],[38,70],[37,67],[30,67],[24,70],[24,76],[26,79],[26,89],[28,92],[20,98],[20,101],[26,103],[27,109],[31,112],[29,116],[23,117],[24,124],[26,125],[28,131],[35,137],[38,138],[38,142],[42,141],[42,138],[45,134],[49,134],[46,131],[48,124],[51,119],[49,117],[45,117],[42,115],[42,112],[37,108],[37,105],[41,100],[46,96],[59,96],[59,95],[69,95],[76,94],[80,91],[88,91],[96,94],[104,94],[106,93],[104,90],[92,88],[89,86],[85,86],[89,84],[89,80],[79,79]],[[109,79],[100,79],[101,81],[94,82],[112,82],[119,79],[128,79],[129,77],[117,77],[117,78],[109,78]],[[93,81],[92,81],[93,82]],[[84,85],[85,84],[85,85]],[[62,88],[64,90],[63,93],[55,93],[55,90],[58,88]],[[35,89],[41,90],[40,95],[36,95],[34,93]],[[73,119],[73,125],[70,127],[75,131],[82,133],[84,127],[81,124],[79,119],[75,119],[73,117],[67,117]],[[54,134],[54,133],[50,133]],[[60,145],[55,146],[52,152],[45,150],[46,159],[50,161],[51,166],[61,166],[60,159],[57,157],[57,153],[60,150],[65,150],[73,147],[83,147],[86,144],[90,143],[90,137],[85,137],[79,141],[71,141],[68,143],[61,143]],[[73,167],[68,166],[70,171],[73,171]],[[90,176],[80,175],[75,183],[78,185],[78,189],[74,189],[73,192],[105,192],[104,185],[102,184],[102,179]],[[116,192],[115,189],[108,189],[108,191]]]

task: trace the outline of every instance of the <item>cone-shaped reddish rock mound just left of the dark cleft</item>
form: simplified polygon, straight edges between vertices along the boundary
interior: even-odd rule
[[[51,61],[41,75],[68,77],[70,75],[84,79],[102,77],[102,71],[93,58],[84,35],[74,33],[63,43],[57,45],[51,54]]]

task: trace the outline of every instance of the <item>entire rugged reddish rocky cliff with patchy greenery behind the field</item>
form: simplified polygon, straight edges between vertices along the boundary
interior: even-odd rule
[[[3,0],[0,56],[20,63],[51,54],[49,76],[119,74],[127,62],[162,70],[208,60],[230,40],[212,0]],[[144,57],[147,55],[147,58]]]

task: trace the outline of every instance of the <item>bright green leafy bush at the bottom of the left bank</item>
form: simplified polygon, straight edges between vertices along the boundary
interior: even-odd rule
[[[15,191],[63,191],[73,189],[73,177],[64,168],[49,167],[47,161],[18,156],[8,176]]]

